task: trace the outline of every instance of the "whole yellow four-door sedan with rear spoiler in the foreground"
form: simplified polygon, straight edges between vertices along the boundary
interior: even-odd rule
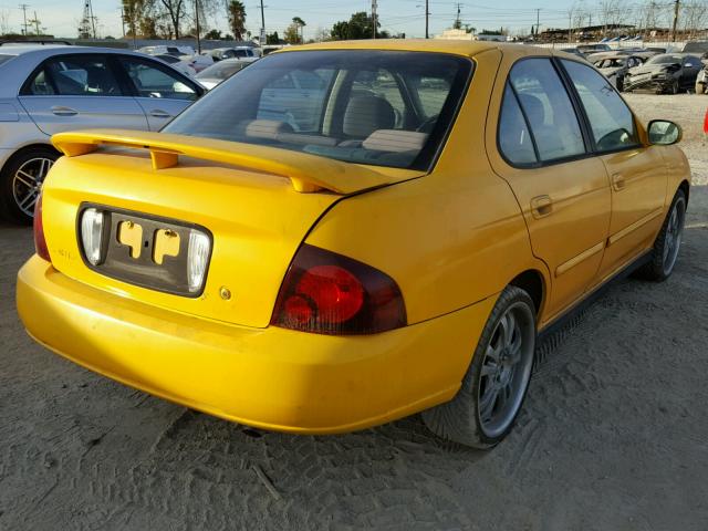
[[[679,139],[551,50],[300,46],[160,133],[54,136],[18,310],[62,356],[229,420],[424,412],[491,447],[539,333],[618,274],[671,273]]]

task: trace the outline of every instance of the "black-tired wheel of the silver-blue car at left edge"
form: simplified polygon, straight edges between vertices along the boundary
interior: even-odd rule
[[[35,146],[15,153],[0,171],[0,208],[8,221],[31,225],[46,173],[60,154]]]

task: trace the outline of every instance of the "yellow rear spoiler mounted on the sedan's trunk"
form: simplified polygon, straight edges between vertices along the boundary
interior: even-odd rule
[[[300,192],[330,190],[353,194],[418,177],[418,171],[344,163],[306,153],[228,140],[123,129],[86,129],[59,133],[52,144],[67,157],[95,152],[101,146],[147,149],[153,169],[179,164],[179,156],[239,166],[288,177]]]

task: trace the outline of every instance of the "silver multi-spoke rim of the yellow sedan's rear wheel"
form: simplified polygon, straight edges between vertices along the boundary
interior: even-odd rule
[[[510,306],[497,322],[482,360],[478,416],[487,437],[501,436],[511,425],[531,377],[534,322],[524,303]]]

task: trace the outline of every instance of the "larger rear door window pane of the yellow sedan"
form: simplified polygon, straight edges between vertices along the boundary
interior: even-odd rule
[[[529,121],[542,162],[585,153],[575,110],[550,60],[521,60],[511,69],[509,82]]]

